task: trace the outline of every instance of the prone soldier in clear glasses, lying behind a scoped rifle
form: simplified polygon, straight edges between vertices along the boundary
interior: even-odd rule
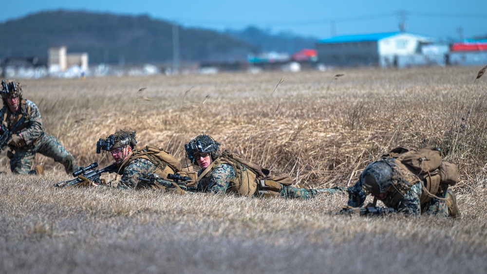
[[[181,164],[163,149],[146,146],[145,149],[134,150],[137,141],[135,131],[118,130],[96,143],[96,152],[107,151],[112,155],[118,166],[118,174],[122,175],[117,184],[121,189],[153,188],[165,189],[165,186],[143,182],[140,178],[148,178],[155,173],[162,178],[168,174],[181,172]],[[92,183],[92,185],[96,185]]]

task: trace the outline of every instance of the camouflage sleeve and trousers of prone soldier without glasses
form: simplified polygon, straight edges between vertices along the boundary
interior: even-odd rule
[[[211,168],[211,166],[208,168]],[[203,170],[200,170],[198,172],[198,176],[201,175],[202,172]],[[197,183],[197,191],[214,194],[228,193],[228,187],[231,181],[237,177],[237,172],[230,164],[218,164],[208,173],[209,175],[207,176],[207,180],[200,180]],[[279,195],[286,199],[290,198],[306,200],[324,192],[337,193],[339,190],[332,188],[305,189],[281,184],[281,191]],[[257,193],[255,193],[254,196],[257,196]]]

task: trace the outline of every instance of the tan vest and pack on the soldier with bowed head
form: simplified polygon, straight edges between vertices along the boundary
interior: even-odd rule
[[[421,204],[433,197],[443,199],[437,196],[442,191],[440,185],[454,185],[458,180],[456,164],[442,161],[440,151],[433,146],[418,151],[396,147],[379,161],[389,164],[394,174],[390,194],[382,200],[387,206],[396,206],[412,185],[418,182],[423,186]]]

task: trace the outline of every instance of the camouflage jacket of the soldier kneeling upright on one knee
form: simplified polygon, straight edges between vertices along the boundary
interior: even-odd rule
[[[39,109],[36,104],[29,100],[21,100],[20,108],[17,112],[12,113],[6,104],[0,110],[0,117],[2,123],[9,130],[12,130],[20,119],[20,115],[25,117],[25,121],[20,125],[20,131],[13,132],[14,134],[21,134],[27,146],[34,145],[34,142],[45,134],[42,127],[42,119],[40,117]]]

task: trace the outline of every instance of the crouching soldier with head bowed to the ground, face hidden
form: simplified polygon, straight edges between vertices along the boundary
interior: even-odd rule
[[[427,146],[418,151],[398,147],[364,169],[356,184],[349,188],[349,209],[364,204],[368,194],[376,208],[382,201],[394,211],[406,215],[459,217],[455,194],[448,189],[457,182],[457,167],[442,162],[439,149]],[[362,209],[366,209],[362,208]]]

